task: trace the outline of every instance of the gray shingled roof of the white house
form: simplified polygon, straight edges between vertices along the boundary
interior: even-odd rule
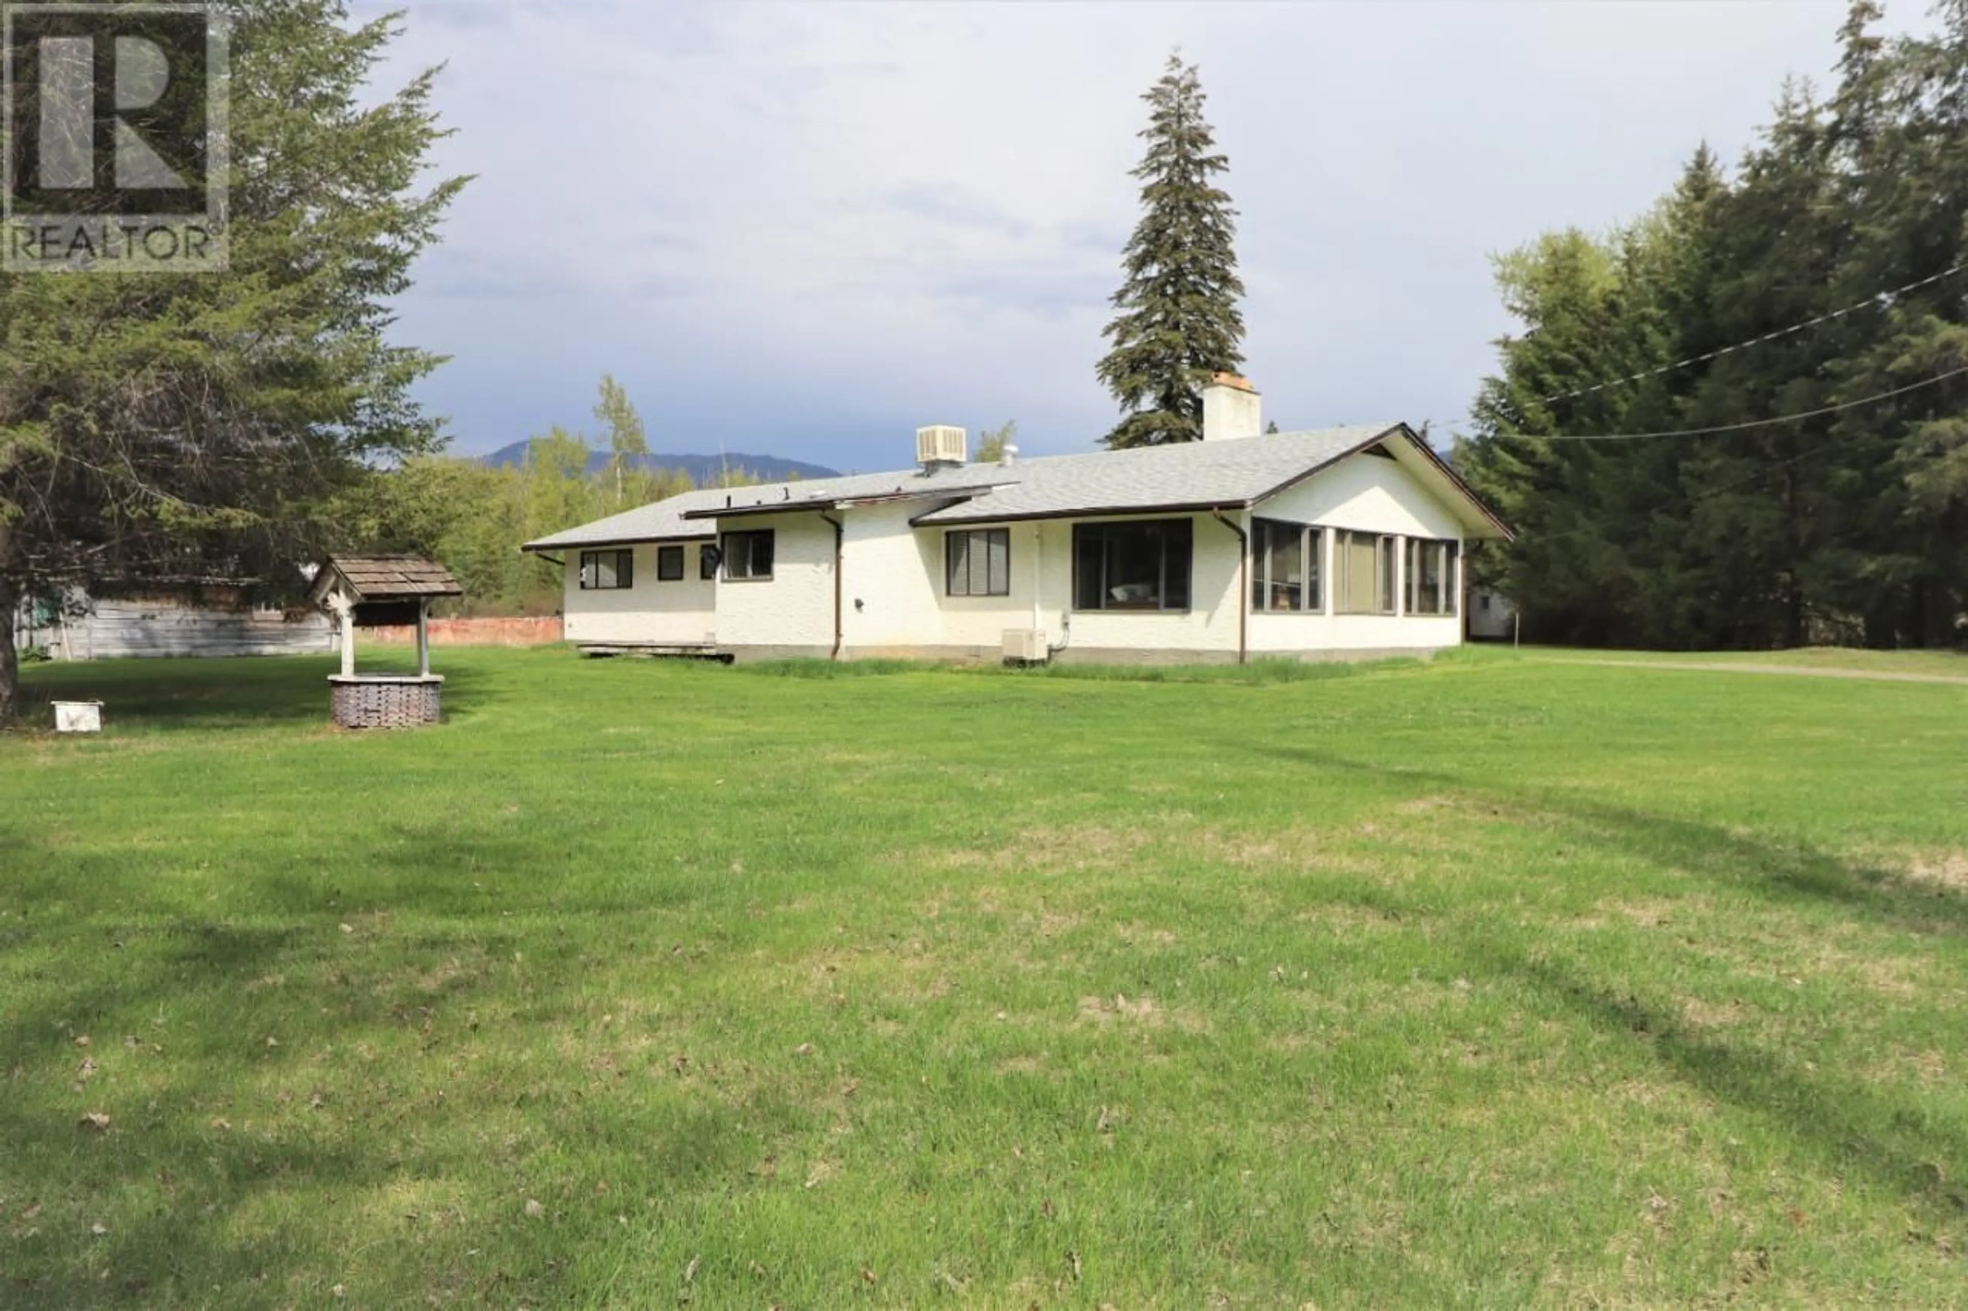
[[[683,492],[606,520],[527,541],[525,549],[557,549],[630,541],[708,539],[716,520],[687,520],[707,510],[787,510],[832,506],[872,496],[964,494],[954,506],[933,508],[921,524],[980,524],[1069,514],[1112,514],[1193,506],[1246,506],[1293,478],[1358,451],[1397,423],[1354,423],[1309,433],[1267,433],[1244,441],[1189,441],[1134,451],[1045,455],[1015,465],[958,465],[925,474],[919,468],[809,482],[769,482]],[[994,482],[978,494],[980,482]]]

